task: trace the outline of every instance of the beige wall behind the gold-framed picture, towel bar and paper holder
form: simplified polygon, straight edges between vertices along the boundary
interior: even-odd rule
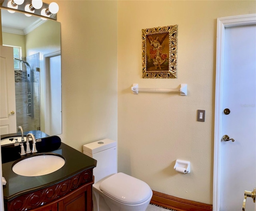
[[[118,170],[153,190],[212,204],[216,18],[256,13],[255,1],[118,1]],[[142,79],[141,30],[178,24],[178,78]],[[188,96],[132,94],[176,88]],[[197,110],[206,110],[197,122]],[[191,173],[173,169],[191,162]]]

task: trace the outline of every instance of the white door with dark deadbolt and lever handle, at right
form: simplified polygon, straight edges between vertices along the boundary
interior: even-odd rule
[[[223,64],[222,134],[234,142],[221,144],[220,211],[241,211],[256,186],[256,25],[225,29]]]

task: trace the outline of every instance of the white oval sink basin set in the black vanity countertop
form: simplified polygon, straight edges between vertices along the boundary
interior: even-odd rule
[[[36,154],[14,164],[12,171],[21,176],[42,176],[59,170],[64,164],[65,158],[58,154]]]

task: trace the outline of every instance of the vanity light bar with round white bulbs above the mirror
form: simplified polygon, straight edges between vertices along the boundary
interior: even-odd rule
[[[1,0],[0,8],[8,10],[10,13],[15,11],[24,12],[26,16],[36,15],[43,18],[57,20],[59,6],[57,3],[43,3],[42,0]]]

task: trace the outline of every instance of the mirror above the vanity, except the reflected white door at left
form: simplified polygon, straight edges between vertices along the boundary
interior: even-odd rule
[[[5,9],[1,21],[2,44],[14,52],[15,96],[8,97],[15,97],[16,129],[61,134],[60,23]]]

